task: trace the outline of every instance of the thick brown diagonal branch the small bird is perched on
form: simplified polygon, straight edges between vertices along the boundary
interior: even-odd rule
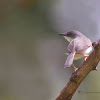
[[[56,98],[56,100],[71,100],[73,94],[77,90],[80,83],[84,80],[84,78],[92,71],[96,69],[100,61],[100,40],[97,42],[93,42],[94,50],[87,58],[86,61],[81,65],[80,68],[74,73],[72,73],[71,78],[67,85],[63,88],[60,95]]]

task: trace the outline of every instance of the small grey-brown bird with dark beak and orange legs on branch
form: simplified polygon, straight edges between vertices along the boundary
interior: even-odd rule
[[[85,57],[86,60],[93,50],[92,42],[89,38],[77,30],[59,33],[59,35],[64,36],[64,38],[70,42],[67,48],[68,57],[64,66],[66,68],[73,65],[74,70],[76,71],[78,68],[75,67],[73,60],[81,59],[82,57]]]

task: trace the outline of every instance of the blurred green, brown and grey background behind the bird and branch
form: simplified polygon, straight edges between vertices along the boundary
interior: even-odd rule
[[[1,0],[0,100],[55,100],[74,71],[58,33],[73,29],[100,38],[99,0]],[[72,100],[100,100],[99,76],[98,65]]]

